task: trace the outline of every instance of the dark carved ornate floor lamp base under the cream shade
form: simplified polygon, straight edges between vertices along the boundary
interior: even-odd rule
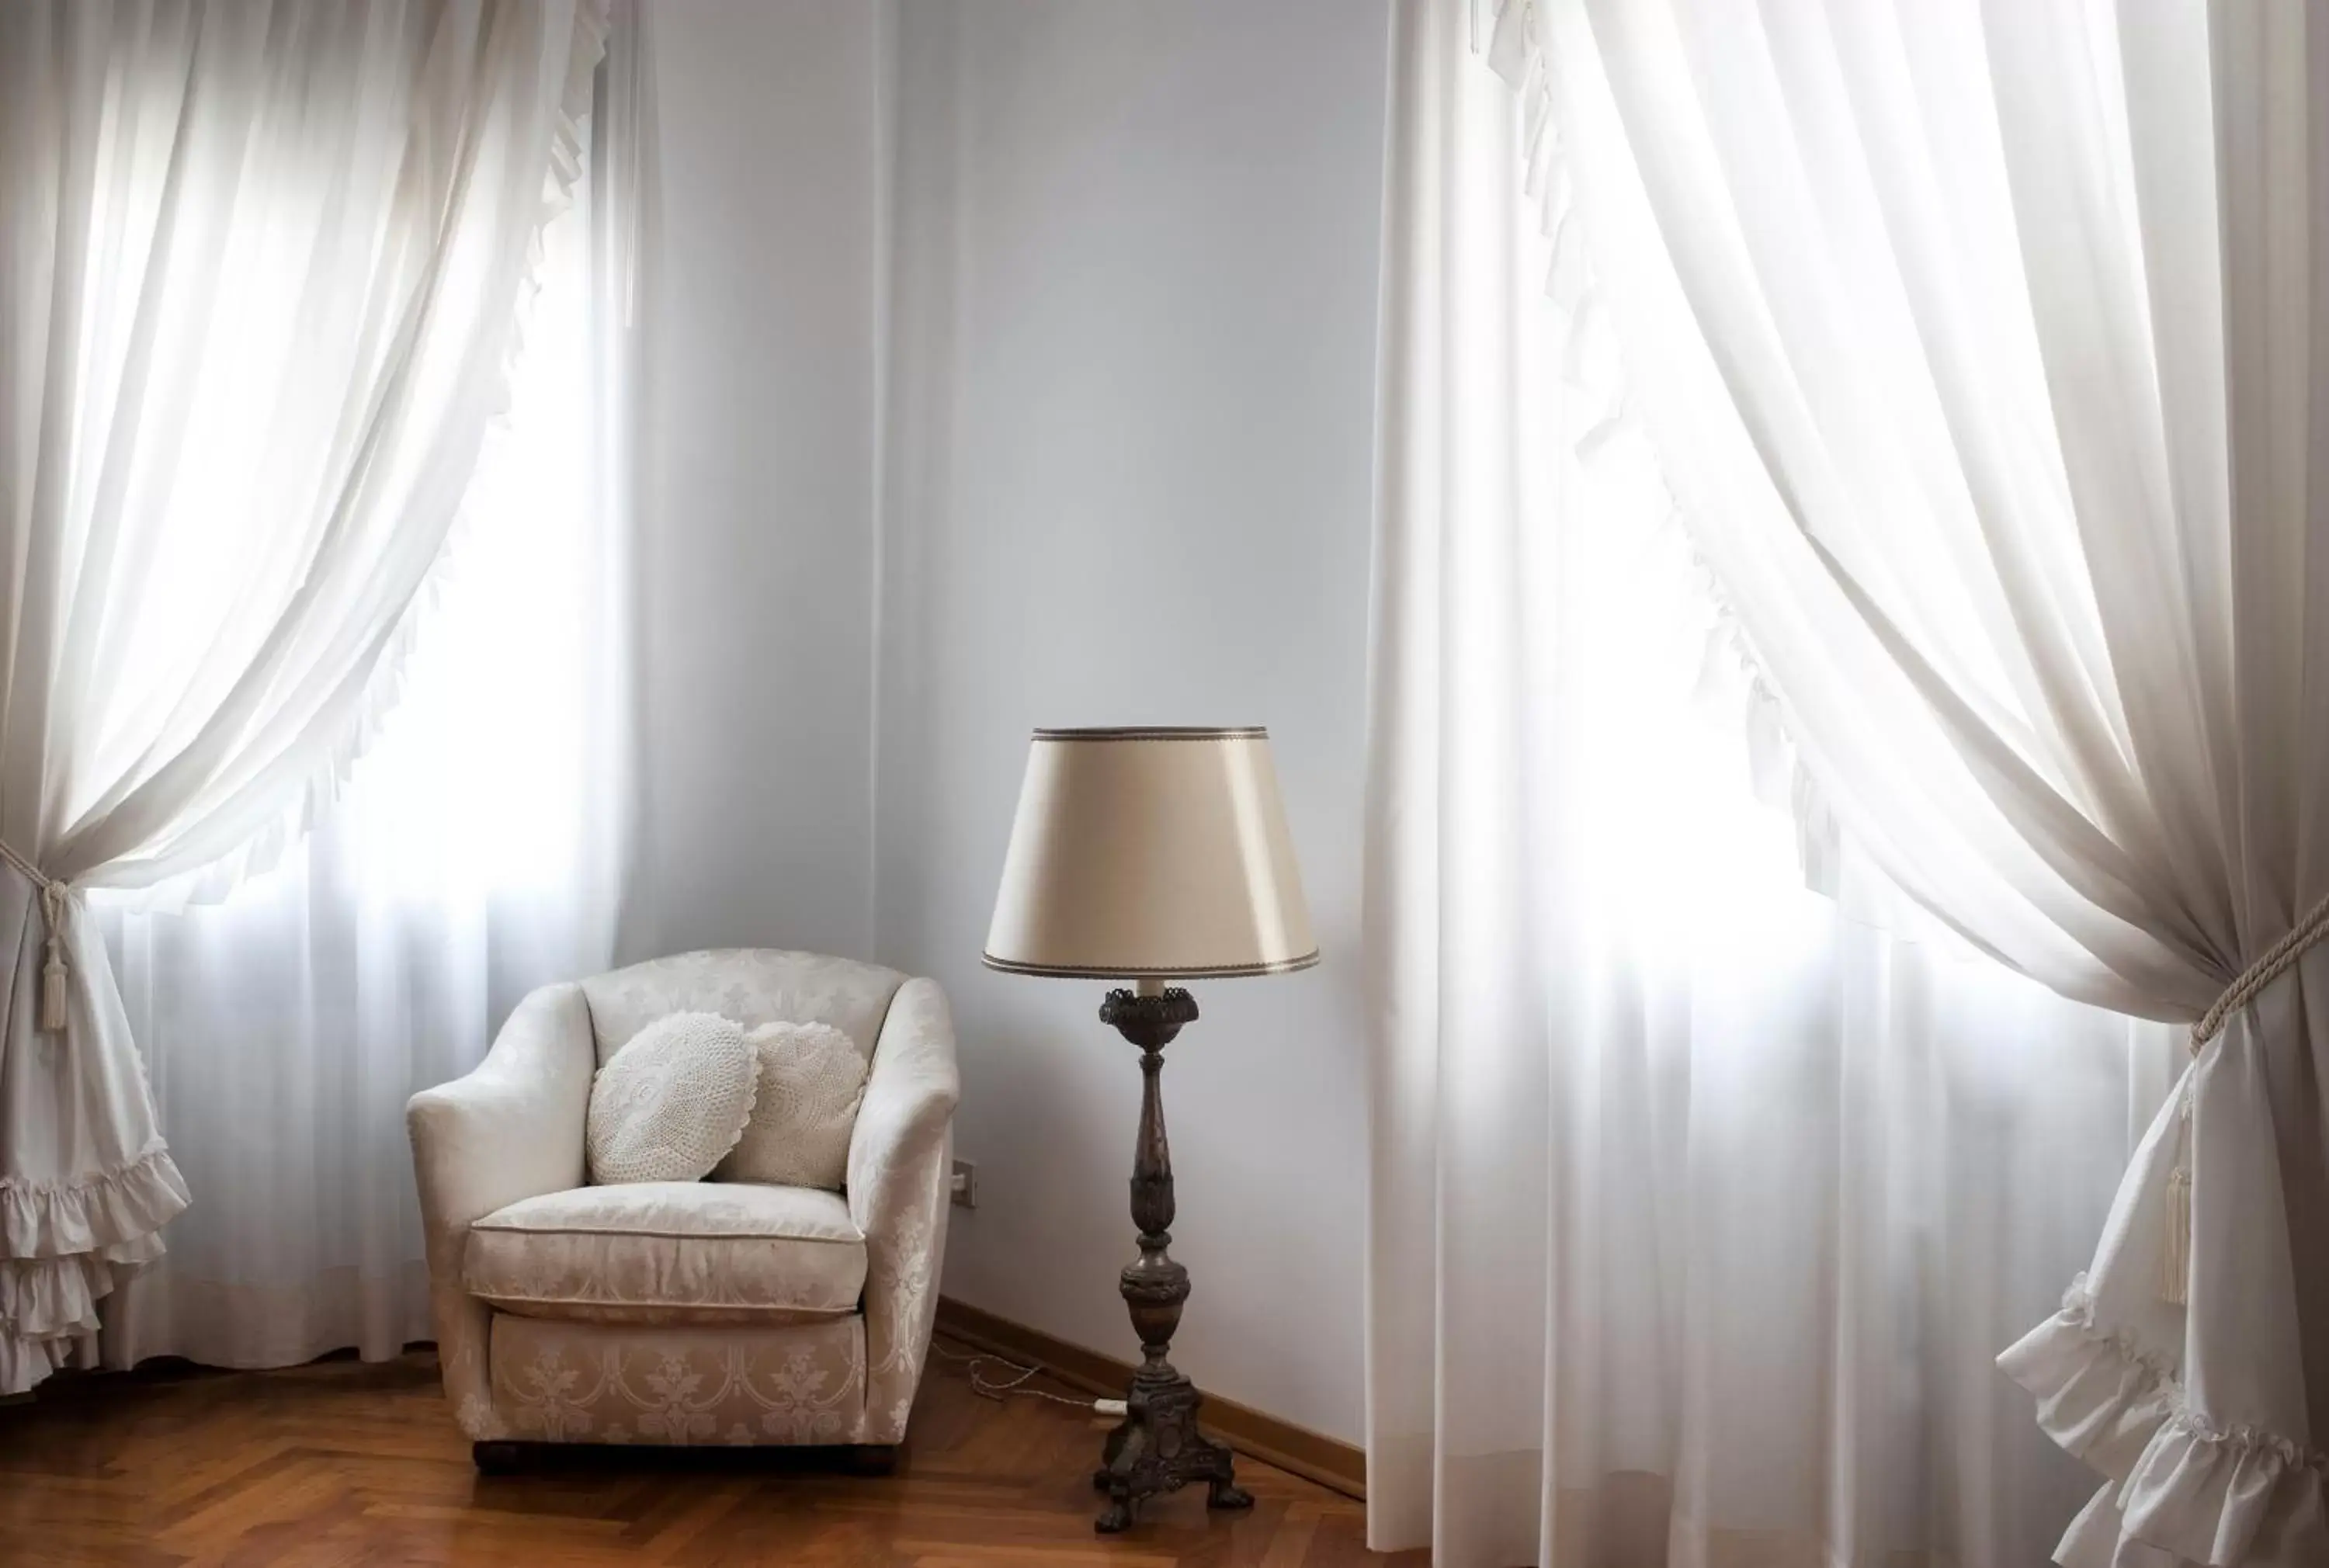
[[[1099,1449],[1092,1486],[1109,1493],[1092,1528],[1113,1535],[1127,1528],[1141,1498],[1178,1491],[1204,1482],[1206,1507],[1253,1507],[1253,1496],[1237,1484],[1230,1449],[1197,1431],[1197,1386],[1167,1361],[1174,1328],[1181,1326],[1181,1302],[1188,1300],[1188,1270],[1171,1260],[1171,1146],[1164,1142],[1164,1100],[1158,1074],[1164,1069],[1164,1046],[1181,1025],[1195,1023],[1197,1000],[1178,986],[1141,981],[1139,990],[1111,990],[1099,1004],[1099,1020],[1141,1048],[1141,1132],[1132,1151],[1132,1223],[1139,1226],[1141,1256],[1125,1267],[1120,1288],[1132,1309],[1132,1328],[1141,1337],[1141,1365],[1125,1396],[1123,1424]]]

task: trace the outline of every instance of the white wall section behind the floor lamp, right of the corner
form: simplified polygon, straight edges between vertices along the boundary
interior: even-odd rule
[[[1269,725],[1325,962],[1167,1053],[1204,1386],[1360,1435],[1379,0],[906,0],[876,944],[962,1037],[946,1291],[1137,1356],[1134,1051],[978,967],[1034,725]]]

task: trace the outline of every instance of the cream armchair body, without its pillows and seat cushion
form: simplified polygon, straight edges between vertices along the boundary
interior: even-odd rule
[[[463,1281],[470,1228],[552,1193],[582,1188],[568,1200],[582,1207],[620,1193],[585,1188],[592,1074],[650,1018],[689,1009],[748,1027],[831,1023],[871,1053],[850,1132],[848,1191],[813,1193],[845,1209],[862,1237],[857,1309],[804,1323],[717,1326],[673,1321],[701,1309],[689,1305],[652,1312],[652,1323],[496,1312]],[[529,995],[475,1072],[415,1095],[408,1109],[438,1356],[461,1431],[477,1442],[899,1442],[936,1314],[957,1095],[943,993],[876,965],[813,953],[682,953]],[[822,1214],[836,1221],[834,1209]],[[654,1279],[654,1291],[699,1288],[675,1253],[664,1274],[654,1272],[664,1263],[633,1267]],[[827,1284],[831,1300],[848,1288]],[[743,1293],[741,1284],[701,1288],[715,1298],[710,1309]],[[815,1286],[801,1291],[813,1295]],[[620,1307],[571,1305],[592,1316]]]

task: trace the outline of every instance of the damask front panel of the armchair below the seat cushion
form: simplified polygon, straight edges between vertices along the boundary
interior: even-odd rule
[[[529,1442],[855,1442],[864,1319],[610,1328],[494,1316],[494,1410]]]

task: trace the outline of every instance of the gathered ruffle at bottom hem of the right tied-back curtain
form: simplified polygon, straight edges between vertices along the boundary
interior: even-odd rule
[[[2096,1323],[2084,1274],[1998,1368],[2036,1396],[2045,1435],[2112,1482],[2129,1540],[2224,1568],[2329,1561],[2329,1454],[2213,1424],[2173,1363]]]

